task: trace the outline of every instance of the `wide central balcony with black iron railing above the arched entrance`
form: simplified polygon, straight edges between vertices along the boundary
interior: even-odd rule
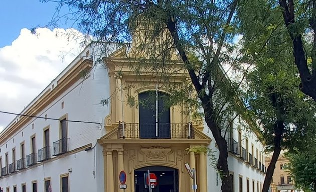
[[[123,127],[124,125],[124,127]],[[123,130],[124,128],[124,130]],[[158,132],[157,132],[158,131]],[[124,134],[123,134],[124,133]],[[118,138],[133,139],[190,139],[194,138],[191,123],[125,123],[120,122]]]

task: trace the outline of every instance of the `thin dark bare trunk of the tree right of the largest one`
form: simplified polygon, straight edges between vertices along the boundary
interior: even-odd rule
[[[269,191],[270,183],[272,181],[272,176],[273,176],[274,169],[275,169],[275,164],[276,164],[276,161],[279,158],[279,155],[281,153],[281,139],[282,139],[282,134],[283,134],[283,130],[284,130],[284,125],[281,123],[278,123],[278,124],[281,127],[277,127],[276,130],[274,131],[275,132],[274,151],[273,151],[270,165],[268,166],[267,173],[265,175],[262,192]],[[278,126],[278,125],[275,125],[275,126]]]

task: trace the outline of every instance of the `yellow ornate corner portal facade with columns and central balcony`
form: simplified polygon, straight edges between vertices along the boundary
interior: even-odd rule
[[[122,48],[104,59],[112,95],[111,113],[104,120],[107,133],[98,140],[103,146],[105,191],[121,191],[121,171],[127,174],[126,192],[143,191],[144,173],[147,169],[158,177],[159,184],[153,189],[154,192],[193,191],[193,179],[185,168],[185,163],[189,163],[197,173],[197,191],[206,192],[207,154],[188,150],[207,147],[211,142],[211,139],[202,133],[202,122],[189,120],[186,107],[171,106],[167,112],[169,123],[166,123],[165,127],[158,127],[154,123],[150,126],[156,127],[150,127],[150,123],[144,125],[142,116],[146,115],[146,112],[141,113],[141,107],[137,104],[140,95],[148,91],[166,95],[168,92],[162,85],[164,80],[159,73],[149,70],[136,74],[130,66],[138,63],[125,58],[125,52],[126,49]],[[185,71],[180,69],[181,62],[170,64],[173,64],[171,68],[177,72],[170,71],[172,75],[169,82],[172,81],[172,84],[169,85],[181,85],[188,78]],[[136,104],[128,104],[128,97],[135,98]],[[155,128],[156,131],[158,128],[165,129],[167,133],[156,132],[156,135],[146,136],[147,131],[155,132]],[[165,136],[160,137],[158,134]]]

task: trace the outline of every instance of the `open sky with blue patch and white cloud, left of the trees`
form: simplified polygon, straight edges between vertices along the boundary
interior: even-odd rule
[[[39,0],[3,0],[0,6],[0,111],[20,113],[79,54],[80,39],[68,38],[76,29],[59,23],[45,26],[55,12],[54,3]],[[0,113],[0,131],[14,115]]]

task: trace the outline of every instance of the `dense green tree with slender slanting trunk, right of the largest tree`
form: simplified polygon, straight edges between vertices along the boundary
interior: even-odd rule
[[[266,149],[273,151],[262,191],[272,180],[282,149],[293,149],[306,139],[305,130],[314,129],[315,106],[297,88],[291,40],[280,19],[282,11],[273,1],[251,2],[238,7],[244,58],[252,65],[246,75],[245,100],[249,116],[259,120]],[[255,10],[255,11],[254,11]]]

